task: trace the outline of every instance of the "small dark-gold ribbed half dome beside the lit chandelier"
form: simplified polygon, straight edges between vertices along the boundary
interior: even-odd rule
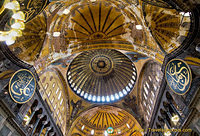
[[[9,49],[21,60],[33,64],[40,56],[46,37],[46,18],[44,14],[26,23],[22,36]]]

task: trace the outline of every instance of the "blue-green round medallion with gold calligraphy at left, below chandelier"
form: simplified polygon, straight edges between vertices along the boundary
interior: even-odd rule
[[[16,103],[26,103],[34,95],[36,80],[34,75],[26,69],[18,70],[9,82],[9,93]]]

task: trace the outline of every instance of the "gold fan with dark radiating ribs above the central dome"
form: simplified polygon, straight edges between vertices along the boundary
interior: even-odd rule
[[[113,38],[126,34],[125,28],[129,26],[120,9],[104,2],[72,11],[71,23],[74,27],[66,28],[66,38],[80,40]]]

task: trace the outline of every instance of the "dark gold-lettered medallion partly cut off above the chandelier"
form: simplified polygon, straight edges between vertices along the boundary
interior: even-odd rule
[[[49,0],[18,0],[21,11],[25,14],[25,22],[29,22],[39,15],[49,4]]]

